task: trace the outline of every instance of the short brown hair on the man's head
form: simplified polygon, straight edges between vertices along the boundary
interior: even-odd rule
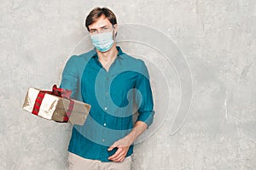
[[[96,7],[90,11],[90,14],[86,17],[85,27],[90,31],[89,26],[96,22],[104,14],[112,25],[117,24],[116,16],[109,8]]]

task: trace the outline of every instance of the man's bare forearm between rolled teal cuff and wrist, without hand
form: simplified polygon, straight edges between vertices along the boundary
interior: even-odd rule
[[[142,121],[137,121],[135,126],[132,128],[131,133],[125,136],[125,139],[129,140],[129,143],[132,144],[148,128],[147,124]]]

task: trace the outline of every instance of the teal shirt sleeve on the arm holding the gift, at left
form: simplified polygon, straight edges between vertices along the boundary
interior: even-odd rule
[[[60,88],[65,88],[72,90],[71,97],[76,99],[77,91],[78,91],[78,71],[77,71],[77,57],[76,55],[71,56],[70,59],[67,60],[67,64],[65,65],[62,76],[61,76],[61,85]]]

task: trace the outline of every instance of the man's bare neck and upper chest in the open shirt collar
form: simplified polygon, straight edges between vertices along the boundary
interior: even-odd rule
[[[118,54],[115,43],[107,52],[100,52],[96,50],[99,61],[102,63],[103,67],[108,71],[110,65],[113,63],[114,59]]]

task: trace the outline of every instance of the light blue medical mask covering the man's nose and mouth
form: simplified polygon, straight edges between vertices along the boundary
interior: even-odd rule
[[[113,46],[113,31],[90,35],[90,39],[99,51],[106,52]]]

